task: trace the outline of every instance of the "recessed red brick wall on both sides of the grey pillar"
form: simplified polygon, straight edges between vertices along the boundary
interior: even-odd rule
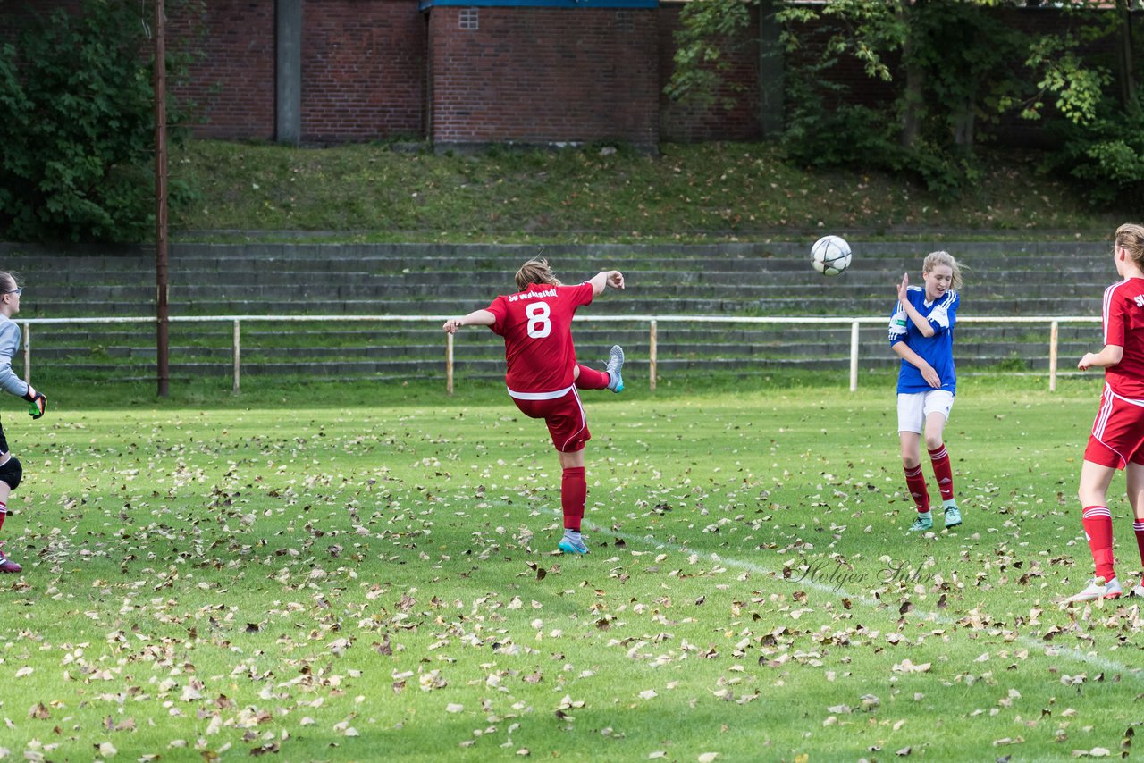
[[[201,1],[170,37],[200,46],[191,82],[196,135],[273,140],[275,0]],[[302,5],[302,140],[423,135],[424,19],[416,0]]]

